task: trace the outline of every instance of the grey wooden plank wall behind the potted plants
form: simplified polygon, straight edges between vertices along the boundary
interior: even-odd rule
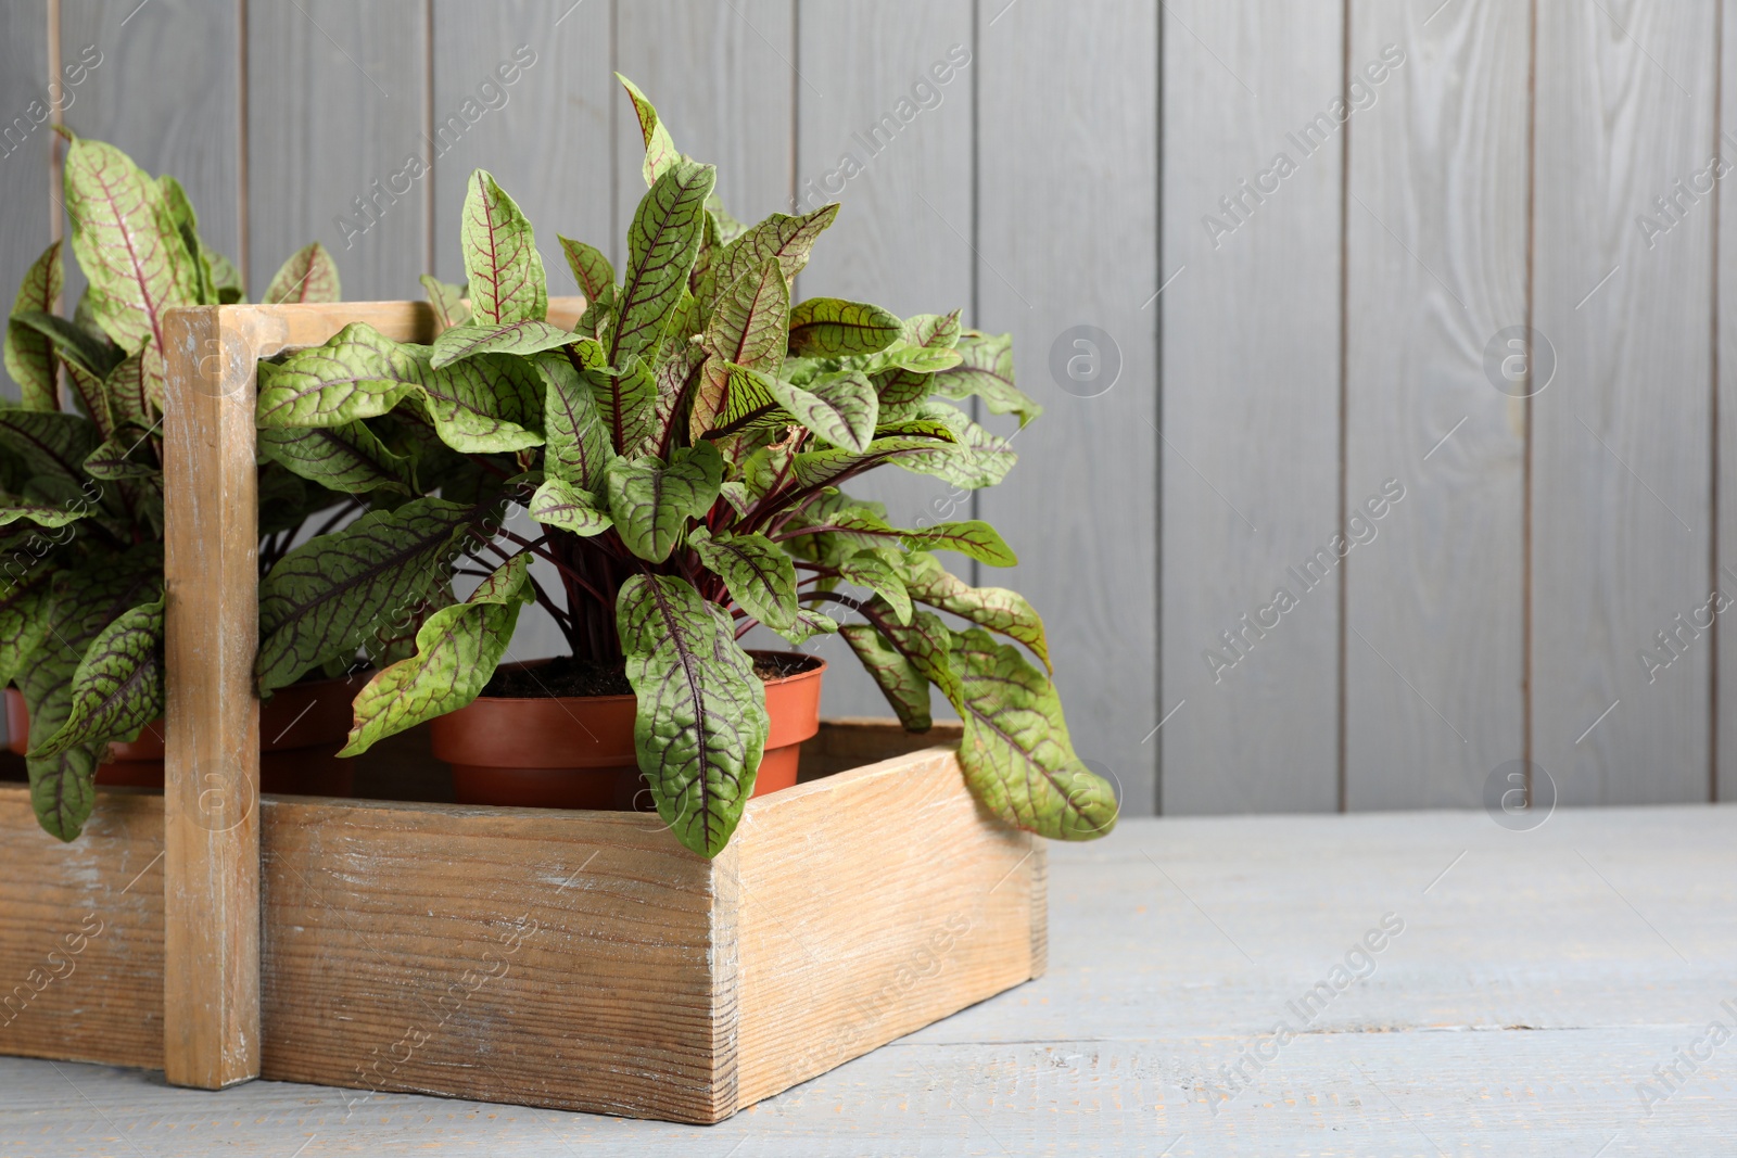
[[[1013,330],[1021,467],[875,495],[1004,530],[1025,563],[978,580],[1046,613],[1131,813],[1476,806],[1520,759],[1704,800],[1737,793],[1702,611],[1737,599],[1730,7],[0,0],[0,120],[101,52],[66,123],[181,175],[255,285],[320,238],[347,297],[412,297],[460,276],[472,167],[620,250],[620,69],[738,217],[844,203],[799,293]],[[5,148],[16,280],[61,224],[50,135]],[[827,710],[879,714],[827,655]]]

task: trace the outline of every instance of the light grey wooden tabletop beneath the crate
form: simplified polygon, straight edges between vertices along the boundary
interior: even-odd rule
[[[1051,856],[1049,976],[723,1125],[0,1059],[0,1155],[1737,1153],[1737,806],[1133,819]]]

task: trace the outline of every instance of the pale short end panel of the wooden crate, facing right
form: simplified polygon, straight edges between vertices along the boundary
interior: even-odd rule
[[[983,816],[948,750],[750,802],[731,842],[740,1104],[1042,972],[1035,840]]]

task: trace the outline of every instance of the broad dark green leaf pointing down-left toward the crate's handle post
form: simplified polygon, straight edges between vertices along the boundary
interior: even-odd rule
[[[415,498],[283,556],[259,583],[261,694],[354,653],[380,623],[446,583],[446,559],[478,514],[467,503]]]

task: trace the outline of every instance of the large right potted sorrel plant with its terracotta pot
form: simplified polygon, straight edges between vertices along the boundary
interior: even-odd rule
[[[466,325],[433,345],[351,325],[261,365],[262,431],[401,417],[433,434],[417,477],[441,479],[438,497],[373,510],[266,575],[261,691],[354,655],[386,623],[413,623],[413,641],[403,632],[403,653],[356,696],[346,753],[434,720],[436,755],[472,802],[526,802],[535,781],[551,785],[549,804],[618,800],[622,773],[637,773],[676,837],[714,856],[759,786],[794,778],[794,755],[785,771],[783,759],[763,762],[768,750],[818,720],[816,661],[738,641],[756,623],[792,646],[841,632],[907,727],[929,727],[929,688],[941,689],[964,720],[966,778],[992,813],[1049,837],[1103,835],[1115,799],[1068,741],[1037,613],[931,554],[1011,566],[1002,538],[980,521],[895,528],[839,490],[886,464],[966,488],[1001,481],[1007,443],[948,399],[1035,415],[1013,385],[1009,339],[964,330],[957,313],[792,306],[790,281],[839,207],[736,224],[712,193],[714,168],[679,155],[624,85],[650,191],[620,280],[599,250],[561,238],[589,300],[575,330],[547,321],[532,226],[476,172]],[[455,297],[436,290],[438,302]],[[505,530],[511,505],[540,535]],[[532,559],[554,569],[554,590]],[[459,575],[479,580],[462,601]],[[570,655],[502,668],[532,601]],[[493,783],[478,788],[479,769]]]

